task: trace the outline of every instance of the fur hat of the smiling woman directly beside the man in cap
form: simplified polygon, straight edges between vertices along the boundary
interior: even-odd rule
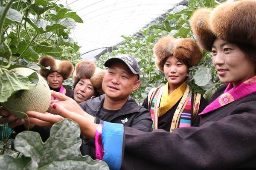
[[[93,87],[99,94],[104,94],[102,90],[102,81],[106,71],[96,68],[96,65],[92,61],[81,61],[77,63],[73,80],[75,82],[74,87],[80,79],[90,79]]]

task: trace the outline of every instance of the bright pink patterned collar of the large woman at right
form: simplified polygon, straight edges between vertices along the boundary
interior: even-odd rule
[[[218,96],[218,98],[211,102],[199,115],[214,111],[253,92],[256,92],[256,76],[241,82],[236,87],[233,87],[232,83],[229,83],[224,94]]]

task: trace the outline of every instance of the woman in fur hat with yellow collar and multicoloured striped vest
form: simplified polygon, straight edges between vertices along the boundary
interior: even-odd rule
[[[190,90],[186,74],[201,60],[201,49],[189,38],[163,37],[154,46],[154,55],[168,80],[166,85],[153,88],[143,103],[151,112],[154,129],[172,132],[177,127],[193,126],[207,103],[201,94]]]

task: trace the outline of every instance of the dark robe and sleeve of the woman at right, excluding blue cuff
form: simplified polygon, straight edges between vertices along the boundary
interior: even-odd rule
[[[172,133],[125,127],[124,138],[124,170],[255,170],[256,92],[201,115],[199,127]]]

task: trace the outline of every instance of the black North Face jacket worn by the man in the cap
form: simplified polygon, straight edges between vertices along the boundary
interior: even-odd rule
[[[97,124],[102,121],[99,118],[99,111],[102,108],[104,99],[105,94],[79,104],[85,112],[96,118],[95,123]],[[134,102],[130,96],[125,105],[123,105],[123,107],[117,113],[115,113],[115,116],[113,116],[109,122],[122,123],[121,120],[126,118],[127,122],[124,123],[124,126],[133,127],[144,132],[151,132],[152,120],[150,112],[142,106],[138,106],[138,104]],[[86,138],[85,136],[81,136],[81,139],[83,141],[80,148],[82,155],[90,155],[93,159],[95,159],[94,141]]]

